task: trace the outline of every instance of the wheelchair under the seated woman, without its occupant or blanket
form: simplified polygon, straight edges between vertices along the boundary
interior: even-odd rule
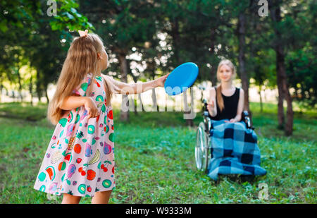
[[[197,169],[200,171],[204,171],[207,173],[208,165],[211,160],[211,145],[209,145],[210,140],[210,131],[212,128],[213,120],[209,115],[209,111],[207,109],[207,100],[202,99],[201,101],[203,106],[203,119],[204,121],[199,123],[196,133],[196,146],[195,146],[195,160]],[[248,111],[242,111],[242,119],[241,119],[247,126],[254,130],[254,127],[251,126],[251,119],[249,117]]]

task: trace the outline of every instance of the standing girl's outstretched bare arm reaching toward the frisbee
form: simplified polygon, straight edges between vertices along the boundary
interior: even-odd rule
[[[149,82],[145,82],[145,83],[132,83],[132,84],[128,84],[128,83],[123,83],[120,82],[118,80],[114,80],[113,78],[111,78],[108,75],[104,75],[101,73],[101,76],[107,80],[110,81],[111,83],[113,83],[114,85],[116,85],[119,88],[119,93],[118,94],[122,94],[122,95],[132,95],[132,94],[139,94],[142,92],[146,92],[147,90],[151,90],[154,87],[163,87],[166,78],[168,77],[170,73],[163,75],[160,78],[157,78],[156,80],[151,80]]]

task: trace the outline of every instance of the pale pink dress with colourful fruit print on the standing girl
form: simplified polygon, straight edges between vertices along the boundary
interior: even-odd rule
[[[92,197],[115,188],[113,110],[106,104],[101,76],[88,73],[73,93],[94,99],[100,115],[87,119],[84,106],[72,109],[58,122],[46,150],[34,188],[54,195]]]

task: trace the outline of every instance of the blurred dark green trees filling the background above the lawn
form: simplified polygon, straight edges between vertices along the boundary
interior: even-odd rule
[[[47,87],[56,83],[72,37],[89,29],[104,40],[107,71],[123,82],[128,75],[135,82],[153,80],[192,61],[199,66],[196,83],[216,85],[217,66],[225,58],[237,66],[244,109],[249,110],[251,84],[259,87],[260,102],[263,87],[278,89],[279,128],[286,135],[292,135],[293,101],[316,107],[316,1],[269,0],[268,16],[259,16],[263,5],[251,0],[56,2],[56,16],[48,16],[48,1],[1,1],[1,92],[9,81],[20,93],[29,90],[32,99],[48,102]],[[28,73],[21,75],[21,68]],[[158,109],[155,89],[152,101]],[[120,119],[128,121],[128,111],[120,111]]]

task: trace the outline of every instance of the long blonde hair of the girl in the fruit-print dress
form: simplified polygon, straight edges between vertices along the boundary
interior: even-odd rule
[[[104,44],[96,34],[88,34],[86,37],[75,37],[70,44],[66,60],[63,63],[61,74],[59,75],[56,92],[49,102],[47,118],[56,125],[67,111],[60,108],[66,97],[72,95],[73,90],[86,78],[87,73],[92,73],[92,80],[101,71],[97,64],[97,52],[102,51]],[[90,93],[93,81],[88,86],[86,93]],[[104,80],[106,87],[106,102],[111,104],[111,97],[116,87],[107,80]]]

